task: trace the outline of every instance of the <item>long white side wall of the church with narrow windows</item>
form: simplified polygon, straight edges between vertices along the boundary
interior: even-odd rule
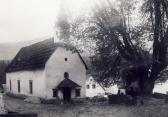
[[[44,70],[37,71],[19,71],[6,74],[7,91],[15,94],[25,94],[28,96],[38,96],[45,98],[45,75]],[[12,90],[10,91],[10,80],[12,83]],[[18,93],[18,80],[20,80],[20,93]],[[30,94],[29,80],[33,81],[33,94]]]

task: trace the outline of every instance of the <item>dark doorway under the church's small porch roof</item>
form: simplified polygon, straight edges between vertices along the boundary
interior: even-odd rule
[[[71,88],[69,88],[69,87],[64,87],[63,88],[63,99],[66,102],[70,102],[70,100],[71,100]]]

